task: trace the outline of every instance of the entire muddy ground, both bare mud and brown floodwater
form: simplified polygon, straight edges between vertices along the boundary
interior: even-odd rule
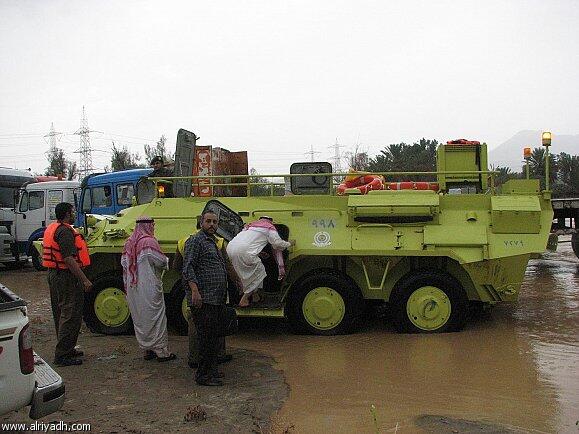
[[[31,301],[35,349],[51,361],[44,273],[0,271],[0,282]],[[185,336],[170,336],[180,357],[162,365],[143,361],[132,336],[83,330],[86,364],[58,368],[67,401],[45,420],[118,433],[579,434],[578,330],[579,260],[562,244],[531,260],[517,303],[460,333],[401,335],[378,316],[345,336],[244,321],[228,338],[235,359],[221,389],[193,383]],[[206,420],[195,420],[196,406]]]

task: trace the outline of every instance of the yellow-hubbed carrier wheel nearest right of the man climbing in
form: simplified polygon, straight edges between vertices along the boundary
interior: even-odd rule
[[[352,331],[362,311],[360,291],[347,277],[321,270],[296,284],[286,315],[298,333],[337,335]]]

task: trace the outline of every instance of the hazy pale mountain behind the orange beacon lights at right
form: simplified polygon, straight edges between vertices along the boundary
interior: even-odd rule
[[[520,171],[523,166],[523,148],[541,147],[541,133],[542,131],[519,131],[509,140],[489,151],[489,164],[508,166],[513,170]],[[579,155],[579,134],[557,135],[553,133],[553,143],[549,152]]]

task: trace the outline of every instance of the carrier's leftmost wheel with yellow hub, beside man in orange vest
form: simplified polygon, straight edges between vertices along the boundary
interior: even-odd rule
[[[133,333],[122,277],[103,277],[94,282],[92,291],[85,293],[84,322],[93,333]]]

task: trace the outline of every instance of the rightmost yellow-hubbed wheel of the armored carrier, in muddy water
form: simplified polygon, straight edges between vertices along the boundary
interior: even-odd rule
[[[468,312],[468,299],[450,275],[418,270],[394,289],[390,302],[394,325],[400,333],[442,333],[460,330]]]

